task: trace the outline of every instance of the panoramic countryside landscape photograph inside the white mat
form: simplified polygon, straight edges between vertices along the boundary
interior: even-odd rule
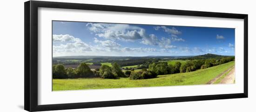
[[[52,21],[52,90],[235,84],[235,28]]]

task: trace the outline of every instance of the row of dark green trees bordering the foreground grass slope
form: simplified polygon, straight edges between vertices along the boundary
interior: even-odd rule
[[[54,79],[91,77],[101,77],[103,79],[117,79],[120,77],[129,77],[129,79],[151,79],[156,78],[158,75],[192,72],[198,69],[205,69],[233,61],[234,59],[235,57],[223,57],[221,59],[195,59],[188,60],[185,64],[176,62],[174,65],[168,65],[167,62],[152,62],[142,64],[143,66],[148,66],[148,69],[145,67],[138,72],[135,72],[134,70],[127,70],[123,72],[121,70],[121,66],[117,63],[114,63],[111,67],[101,65],[100,69],[95,69],[94,71],[92,71],[86,63],[80,63],[77,68],[65,68],[62,64],[57,64],[53,65],[52,70]]]

